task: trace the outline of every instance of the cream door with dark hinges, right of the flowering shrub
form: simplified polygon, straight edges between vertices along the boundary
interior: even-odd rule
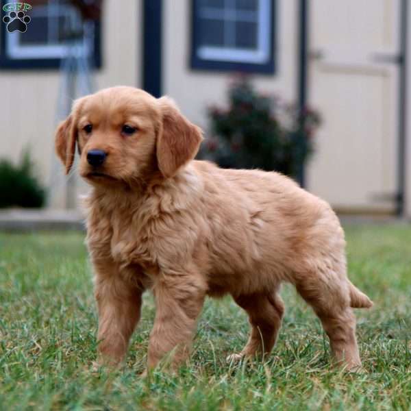
[[[400,0],[310,1],[310,105],[323,124],[307,186],[336,210],[393,212]]]

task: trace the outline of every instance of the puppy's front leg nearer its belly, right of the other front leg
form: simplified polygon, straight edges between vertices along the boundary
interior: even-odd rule
[[[156,311],[149,341],[149,369],[171,351],[174,365],[186,358],[197,316],[203,307],[206,286],[195,275],[162,274],[153,292]]]

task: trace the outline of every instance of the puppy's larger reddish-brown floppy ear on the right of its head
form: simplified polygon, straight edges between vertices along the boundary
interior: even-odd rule
[[[162,125],[157,138],[158,168],[164,177],[173,177],[178,169],[193,158],[203,140],[197,125],[190,123],[179,112],[169,97],[161,97]]]

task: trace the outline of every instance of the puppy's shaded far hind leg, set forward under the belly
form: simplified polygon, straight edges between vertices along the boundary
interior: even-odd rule
[[[238,354],[232,354],[227,360],[237,360],[243,356],[252,357],[256,354],[271,352],[277,340],[279,327],[284,314],[284,303],[277,295],[252,294],[240,295],[234,301],[247,311],[251,324],[251,334],[247,345]]]

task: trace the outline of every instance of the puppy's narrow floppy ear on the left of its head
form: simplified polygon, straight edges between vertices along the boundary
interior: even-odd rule
[[[71,114],[58,125],[55,131],[55,152],[66,167],[66,174],[69,174],[71,166],[73,166],[76,140],[77,129]]]

